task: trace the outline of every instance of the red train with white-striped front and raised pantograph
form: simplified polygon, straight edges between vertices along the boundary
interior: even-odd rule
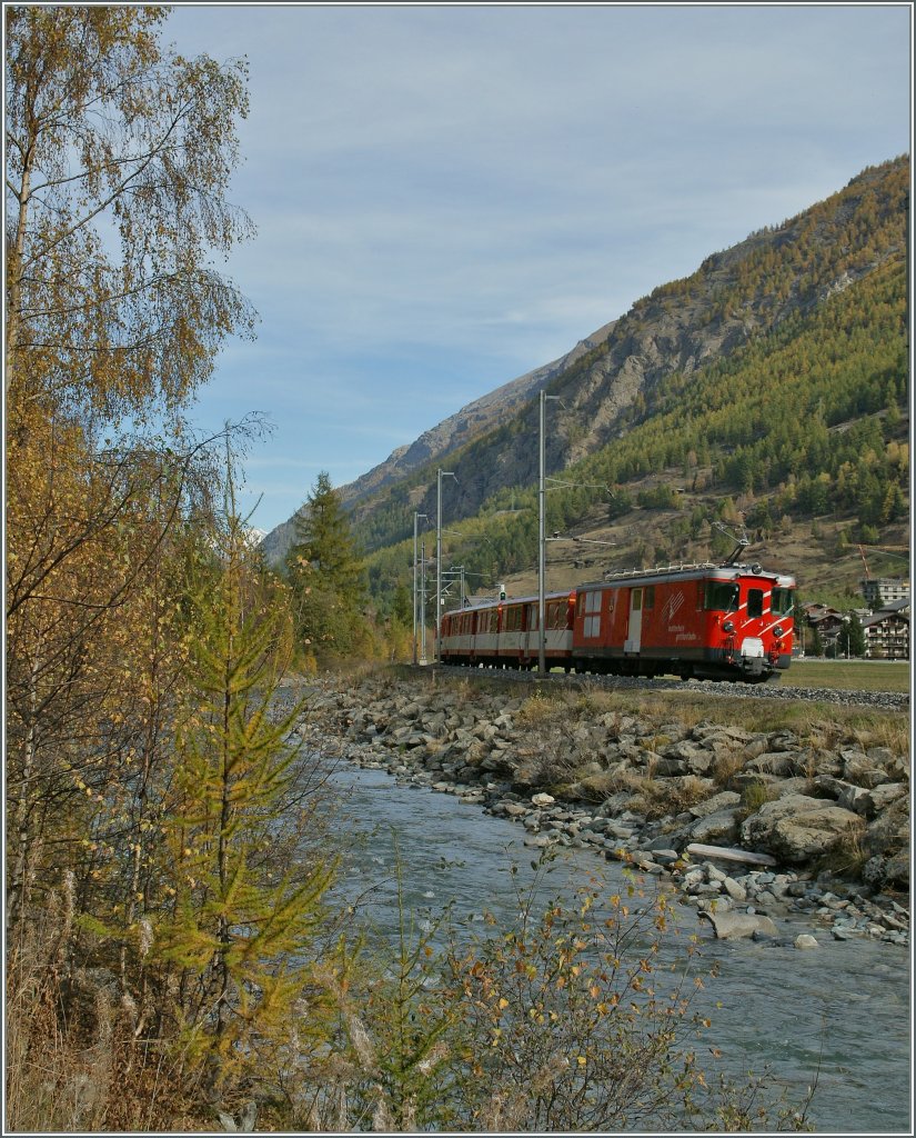
[[[548,668],[759,683],[789,667],[796,580],[759,564],[615,574],[546,597]],[[442,618],[443,663],[538,667],[538,597]]]

